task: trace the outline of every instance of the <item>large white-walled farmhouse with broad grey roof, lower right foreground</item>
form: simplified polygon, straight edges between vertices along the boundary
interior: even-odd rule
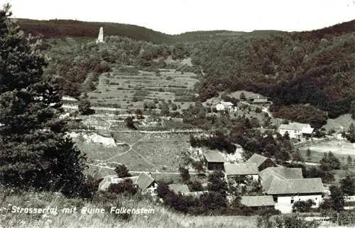
[[[313,207],[319,207],[324,196],[324,187],[320,178],[273,178],[266,194],[273,196],[276,210],[289,213],[292,212],[293,203],[297,201],[312,200],[315,202]]]

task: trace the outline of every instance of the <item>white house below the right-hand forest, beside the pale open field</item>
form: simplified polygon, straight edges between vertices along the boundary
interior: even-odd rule
[[[290,123],[290,124],[281,124],[278,127],[278,133],[280,135],[285,136],[286,131],[290,136],[290,139],[301,139],[306,136],[312,136],[313,128],[310,124],[300,124],[300,123]]]

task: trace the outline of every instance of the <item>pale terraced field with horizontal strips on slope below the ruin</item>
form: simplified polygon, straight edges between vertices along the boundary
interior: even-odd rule
[[[99,77],[97,89],[89,92],[88,96],[93,106],[126,110],[143,110],[143,104],[154,99],[159,103],[170,100],[178,106],[178,109],[173,110],[171,104],[172,112],[186,109],[192,104],[196,82],[199,82],[197,75],[191,72],[164,70],[157,75],[155,72],[139,71],[136,75],[129,75],[114,67],[113,72]],[[153,110],[159,113],[159,104],[155,106]]]

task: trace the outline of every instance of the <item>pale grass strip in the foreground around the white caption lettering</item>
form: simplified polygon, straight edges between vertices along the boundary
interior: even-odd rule
[[[111,205],[119,205],[117,207],[132,209],[152,208],[154,212],[146,215],[131,215],[129,219],[124,219],[122,216],[111,215],[109,212],[86,215],[82,215],[80,213],[82,207],[109,208]],[[11,212],[11,208],[13,206],[28,208],[57,207],[58,215],[51,215],[50,213],[43,215],[20,214]],[[192,217],[187,215],[179,215],[178,213],[172,212],[152,200],[139,196],[118,196],[116,198],[112,198],[111,201],[96,200],[96,202],[84,202],[80,199],[68,199],[67,197],[55,192],[22,192],[11,193],[11,195],[5,197],[1,207],[9,210],[2,210],[0,212],[0,227],[256,227],[256,217]],[[60,211],[62,208],[73,207],[77,207],[79,212],[65,214]]]

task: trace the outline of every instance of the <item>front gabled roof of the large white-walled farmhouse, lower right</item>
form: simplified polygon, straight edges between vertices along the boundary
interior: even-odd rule
[[[320,178],[280,179],[273,178],[268,195],[312,194],[324,192]]]

